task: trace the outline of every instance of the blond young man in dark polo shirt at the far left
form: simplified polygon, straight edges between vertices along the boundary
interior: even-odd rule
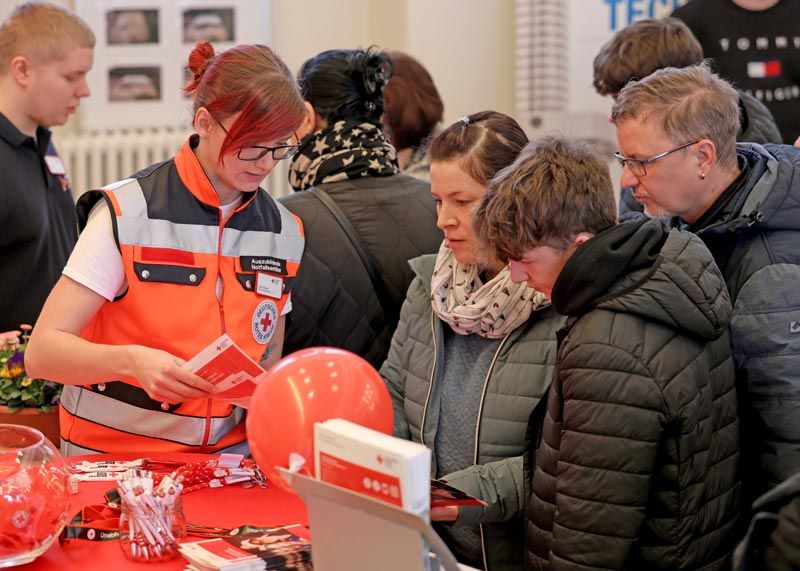
[[[95,38],[66,8],[30,2],[0,25],[0,331],[33,324],[77,239],[50,140],[89,95]]]

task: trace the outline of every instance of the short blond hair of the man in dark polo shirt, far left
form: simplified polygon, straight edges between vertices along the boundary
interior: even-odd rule
[[[17,6],[0,25],[0,75],[23,56],[40,62],[60,59],[72,48],[93,48],[94,33],[74,12],[46,2]]]

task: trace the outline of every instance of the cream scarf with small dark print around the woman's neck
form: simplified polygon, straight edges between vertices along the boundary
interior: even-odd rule
[[[550,304],[544,294],[511,281],[508,266],[485,284],[480,268],[461,264],[442,243],[431,279],[433,312],[459,335],[501,339],[523,324],[531,312]]]

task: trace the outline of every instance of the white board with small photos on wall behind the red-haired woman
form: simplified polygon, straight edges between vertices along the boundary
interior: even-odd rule
[[[182,88],[198,41],[216,51],[269,44],[270,0],[76,0],[97,37],[81,102],[81,128],[91,131],[186,128],[191,104]]]

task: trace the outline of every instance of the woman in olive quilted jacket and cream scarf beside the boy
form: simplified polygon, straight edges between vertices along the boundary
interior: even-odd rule
[[[428,145],[445,241],[437,255],[412,260],[416,277],[381,368],[395,436],[430,447],[434,477],[488,504],[431,510],[454,522],[437,531],[456,557],[487,571],[522,568],[525,430],[550,384],[563,323],[544,295],[486,258],[472,226],[489,181],[527,142],[512,118],[484,111]]]

